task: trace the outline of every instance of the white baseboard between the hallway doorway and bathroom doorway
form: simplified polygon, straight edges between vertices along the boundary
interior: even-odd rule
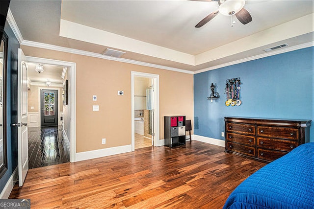
[[[132,151],[132,146],[131,144],[129,144],[129,145],[124,145],[124,146],[110,147],[110,148],[92,150],[92,151],[87,151],[87,152],[78,152],[76,153],[75,159],[76,159],[76,162],[78,162],[78,161],[85,161],[85,160],[90,160],[94,158],[117,155],[117,154],[131,152],[131,151]]]

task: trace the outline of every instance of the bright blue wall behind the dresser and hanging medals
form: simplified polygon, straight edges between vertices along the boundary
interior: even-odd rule
[[[242,104],[227,107],[226,80],[236,77],[241,78]],[[207,99],[211,83],[220,94],[212,102]],[[195,74],[194,134],[224,140],[224,116],[314,120],[314,47]]]

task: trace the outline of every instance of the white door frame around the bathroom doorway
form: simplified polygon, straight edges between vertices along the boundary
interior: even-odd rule
[[[145,72],[131,71],[131,149],[135,150],[135,127],[134,127],[134,77],[145,77],[154,80],[154,146],[161,146],[159,139],[159,75]]]

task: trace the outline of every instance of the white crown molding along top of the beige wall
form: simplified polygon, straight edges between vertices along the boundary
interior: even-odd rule
[[[55,46],[55,45],[44,44],[44,43],[33,42],[33,41],[26,41],[26,40],[24,40],[21,45],[38,47],[38,48],[45,48],[45,49],[50,49],[50,50],[54,50],[54,51],[62,51],[62,52],[72,53],[72,54],[79,54],[79,55],[96,57],[96,58],[101,58],[101,59],[106,59],[106,60],[113,60],[113,61],[123,62],[123,63],[130,63],[130,64],[134,64],[134,65],[146,66],[146,67],[151,67],[151,68],[158,68],[158,69],[162,69],[162,70],[171,70],[171,71],[176,71],[176,72],[193,74],[193,71],[190,71],[190,70],[171,68],[171,67],[167,67],[167,66],[156,65],[156,64],[151,64],[151,63],[146,63],[146,62],[141,62],[141,61],[136,61],[136,60],[129,60],[129,59],[125,59],[125,58],[110,57],[110,56],[105,56],[105,55],[99,54],[99,53],[83,51],[83,50],[68,48],[68,47],[63,47],[63,46]]]

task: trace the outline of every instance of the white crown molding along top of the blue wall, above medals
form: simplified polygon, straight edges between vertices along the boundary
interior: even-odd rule
[[[239,63],[244,63],[244,62],[248,62],[248,61],[252,61],[252,60],[257,60],[257,59],[261,59],[261,58],[264,58],[264,57],[269,57],[269,56],[273,56],[273,55],[277,55],[277,54],[282,54],[282,53],[286,53],[286,52],[289,52],[289,51],[295,51],[295,50],[298,50],[298,49],[307,48],[307,47],[311,47],[311,46],[314,46],[314,41],[313,42],[308,42],[308,43],[305,43],[305,44],[296,45],[296,46],[289,46],[287,48],[282,48],[282,49],[278,49],[278,50],[275,50],[275,51],[265,52],[263,54],[259,54],[259,55],[252,56],[252,57],[247,57],[247,58],[236,60],[236,61],[229,62],[229,63],[224,63],[224,64],[221,64],[221,65],[216,65],[216,66],[213,66],[213,67],[210,67],[210,68],[196,70],[196,71],[194,71],[193,74],[198,74],[198,73],[206,72],[206,71],[209,71],[209,70],[216,70],[216,69],[219,69],[219,68],[223,68],[223,67],[227,67],[227,66],[231,66],[231,65],[235,65],[235,64],[239,64]]]

